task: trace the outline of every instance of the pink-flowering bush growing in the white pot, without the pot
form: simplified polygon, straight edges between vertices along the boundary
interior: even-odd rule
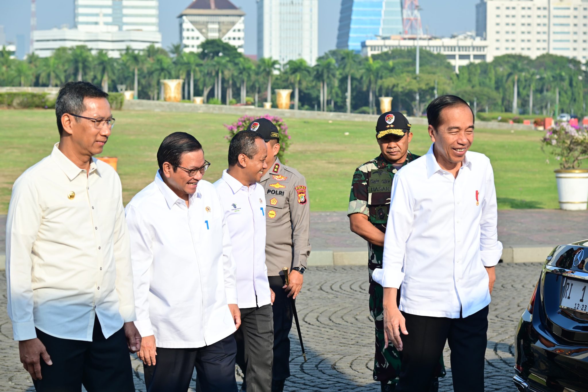
[[[541,149],[559,160],[561,169],[577,169],[588,159],[588,132],[584,127],[559,123],[547,129]]]

